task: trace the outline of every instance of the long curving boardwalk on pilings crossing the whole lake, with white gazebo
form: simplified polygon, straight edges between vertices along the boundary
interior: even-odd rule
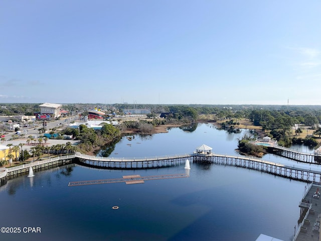
[[[283,151],[288,150],[284,149]],[[295,151],[292,151],[292,153],[296,153],[297,155],[302,154]],[[189,159],[193,163],[213,163],[218,165],[242,167],[304,182],[321,183],[321,171],[315,169],[312,170],[308,166],[306,168],[302,166],[298,167],[295,165],[289,166],[264,161],[254,157],[222,155],[211,152],[194,152],[191,154],[155,156],[144,158],[106,158],[89,156],[76,152],[74,155],[50,158],[47,160],[36,161],[30,164],[20,165],[12,168],[2,168],[0,170],[0,180],[1,184],[6,183],[7,177],[14,177],[16,175],[27,173],[30,167],[32,167],[34,170],[37,170],[49,168],[51,166],[65,165],[74,162],[94,168],[147,169],[184,165],[187,159]]]

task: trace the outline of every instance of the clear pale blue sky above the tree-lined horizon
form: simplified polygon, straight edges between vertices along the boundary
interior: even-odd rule
[[[321,2],[3,0],[0,102],[321,104]]]

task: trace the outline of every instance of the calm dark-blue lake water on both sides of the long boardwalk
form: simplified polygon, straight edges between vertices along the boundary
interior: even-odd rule
[[[202,144],[237,155],[237,138],[201,124],[131,141],[114,157],[191,153]],[[130,146],[127,144],[131,144]],[[267,155],[267,160],[286,159]],[[98,170],[69,165],[21,176],[0,187],[0,226],[41,227],[41,233],[0,233],[0,240],[255,240],[260,233],[291,240],[305,183],[257,171],[191,163],[189,178],[68,187],[68,182],[184,173],[184,166]],[[112,206],[119,206],[114,210]]]

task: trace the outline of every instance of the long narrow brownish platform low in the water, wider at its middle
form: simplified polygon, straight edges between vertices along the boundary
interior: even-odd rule
[[[183,178],[183,177],[189,177],[189,175],[186,174],[186,173],[184,173],[184,174],[157,175],[157,176],[145,176],[145,177],[141,177],[140,175],[129,175],[129,176],[123,176],[122,178],[69,182],[68,186],[71,187],[71,186],[107,184],[107,183],[117,183],[117,182],[125,182],[126,184],[138,184],[138,183],[144,183],[144,181],[147,181],[147,180]]]

